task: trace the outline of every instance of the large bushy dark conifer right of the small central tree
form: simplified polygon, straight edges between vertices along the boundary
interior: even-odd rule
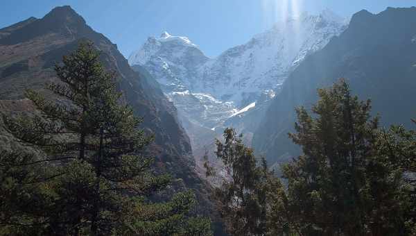
[[[298,235],[405,235],[408,188],[399,160],[380,148],[370,101],[352,96],[344,80],[318,94],[313,115],[297,109],[290,137],[303,155],[284,166],[287,201],[274,215]]]

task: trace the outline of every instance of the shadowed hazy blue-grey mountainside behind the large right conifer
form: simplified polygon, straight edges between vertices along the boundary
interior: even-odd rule
[[[257,152],[266,154],[270,163],[300,153],[287,136],[295,123],[294,108],[311,108],[316,90],[338,78],[347,78],[361,99],[372,99],[382,124],[410,126],[416,116],[415,24],[416,8],[356,13],[344,33],[307,57],[286,80],[254,134]]]

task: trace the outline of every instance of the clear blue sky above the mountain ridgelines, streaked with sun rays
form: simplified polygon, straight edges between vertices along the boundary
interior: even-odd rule
[[[43,17],[55,6],[69,5],[94,30],[130,53],[150,35],[183,35],[207,56],[218,56],[270,28],[285,15],[329,8],[349,17],[358,10],[380,12],[388,6],[416,6],[416,0],[36,0],[2,1],[0,28],[28,17]]]

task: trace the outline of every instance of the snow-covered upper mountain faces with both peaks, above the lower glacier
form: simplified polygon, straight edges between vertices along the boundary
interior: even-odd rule
[[[346,26],[345,19],[330,10],[303,13],[216,58],[207,58],[187,37],[165,32],[149,37],[129,63],[146,67],[166,93],[208,93],[241,108],[256,101],[261,91],[277,89],[309,53],[324,47]]]

